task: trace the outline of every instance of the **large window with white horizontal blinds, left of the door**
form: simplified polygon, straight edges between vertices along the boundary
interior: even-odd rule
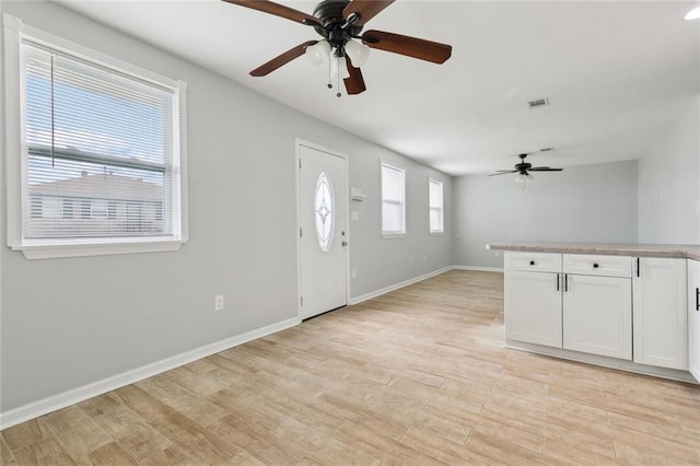
[[[182,241],[184,83],[65,44],[18,34],[21,246]]]

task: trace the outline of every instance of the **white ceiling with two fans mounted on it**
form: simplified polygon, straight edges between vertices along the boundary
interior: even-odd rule
[[[313,28],[219,0],[60,0],[308,115],[448,174],[638,159],[700,92],[698,1],[397,0],[364,27],[451,44],[439,66],[372,50],[368,91],[337,98],[301,57]],[[125,5],[125,3],[127,3]],[[316,2],[279,1],[312,13]],[[551,105],[529,109],[548,97]]]

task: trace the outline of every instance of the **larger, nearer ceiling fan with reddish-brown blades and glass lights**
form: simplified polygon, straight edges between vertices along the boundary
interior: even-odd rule
[[[323,0],[313,15],[267,0],[223,1],[312,26],[322,36],[319,40],[304,42],[272,58],[250,71],[253,77],[269,74],[305,54],[317,66],[329,66],[328,88],[332,88],[334,81],[338,85],[342,79],[347,93],[355,95],[366,90],[360,67],[366,61],[369,48],[433,63],[444,63],[452,55],[452,46],[446,44],[383,31],[360,34],[364,24],[394,0]],[[340,96],[340,92],[337,95]]]

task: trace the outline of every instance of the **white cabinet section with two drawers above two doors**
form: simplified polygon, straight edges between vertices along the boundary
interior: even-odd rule
[[[631,359],[629,257],[506,253],[504,264],[508,339]]]

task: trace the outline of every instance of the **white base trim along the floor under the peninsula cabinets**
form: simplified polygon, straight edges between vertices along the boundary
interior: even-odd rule
[[[688,371],[679,371],[676,369],[656,368],[654,365],[638,364],[623,359],[608,358],[605,356],[587,354],[579,351],[572,351],[561,348],[551,348],[540,345],[527,343],[524,341],[505,340],[505,348],[532,352],[535,354],[544,354],[552,358],[567,359],[570,361],[583,362],[585,364],[600,365],[603,368],[618,369],[620,371],[633,372],[635,374],[652,375],[655,377],[668,378],[672,381],[688,382],[698,385],[698,382],[690,375]]]

